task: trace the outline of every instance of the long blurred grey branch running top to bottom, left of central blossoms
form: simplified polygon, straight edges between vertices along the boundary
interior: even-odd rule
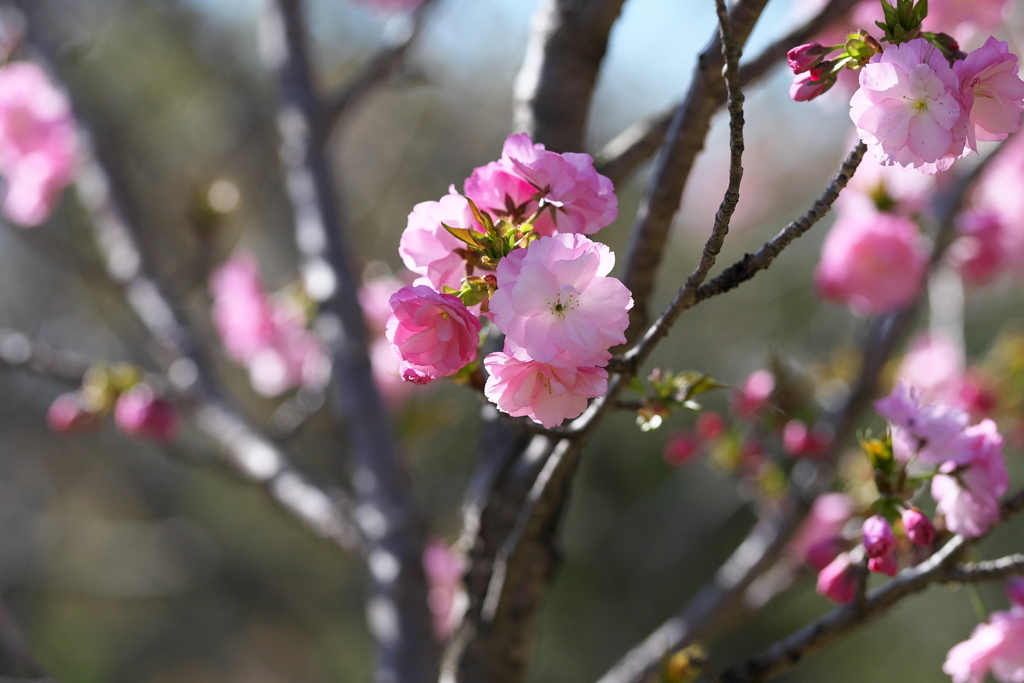
[[[351,230],[327,159],[329,130],[316,94],[300,0],[273,0],[262,35],[281,89],[281,162],[294,213],[301,270],[319,306],[317,329],[333,362],[351,445],[355,521],[373,580],[368,613],[380,647],[377,680],[419,683],[437,672],[423,570],[426,520],[394,443],[394,427],[371,373],[356,297]]]

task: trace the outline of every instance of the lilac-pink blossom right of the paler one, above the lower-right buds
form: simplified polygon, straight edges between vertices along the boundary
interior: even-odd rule
[[[1010,477],[994,422],[982,420],[959,440],[970,457],[966,464],[949,461],[939,468],[932,479],[932,498],[949,530],[974,538],[999,520],[999,497],[1007,493]]]

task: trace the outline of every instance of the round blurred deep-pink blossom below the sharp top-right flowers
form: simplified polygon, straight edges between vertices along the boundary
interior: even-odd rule
[[[857,315],[884,313],[913,301],[927,250],[916,225],[891,214],[841,216],[814,272],[818,294]]]

